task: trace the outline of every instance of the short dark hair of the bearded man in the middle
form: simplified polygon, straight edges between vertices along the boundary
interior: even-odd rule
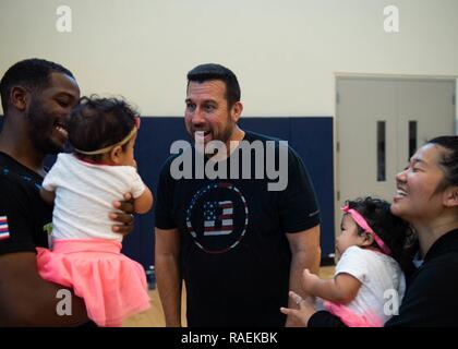
[[[203,83],[212,80],[220,80],[226,85],[226,100],[231,108],[240,101],[240,85],[236,74],[228,68],[215,63],[201,64],[188,73],[188,86],[190,82]]]

